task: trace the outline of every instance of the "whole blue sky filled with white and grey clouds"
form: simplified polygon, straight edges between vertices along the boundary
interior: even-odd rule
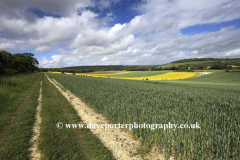
[[[0,0],[0,50],[39,67],[240,58],[239,0]]]

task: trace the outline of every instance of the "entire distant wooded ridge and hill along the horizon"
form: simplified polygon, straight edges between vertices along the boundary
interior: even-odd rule
[[[235,59],[216,59],[216,58],[193,58],[173,61],[164,65],[99,65],[99,66],[72,66],[64,68],[42,68],[40,71],[88,73],[95,71],[159,71],[159,70],[178,70],[192,71],[202,69],[240,69],[240,58]],[[190,67],[190,68],[189,68]],[[235,70],[235,71],[237,71]]]

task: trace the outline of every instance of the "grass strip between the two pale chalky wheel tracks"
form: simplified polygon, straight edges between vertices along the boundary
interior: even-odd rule
[[[64,75],[64,74],[59,74]],[[39,148],[43,159],[114,159],[89,129],[58,129],[56,124],[82,124],[67,99],[46,77],[42,90],[42,124]]]

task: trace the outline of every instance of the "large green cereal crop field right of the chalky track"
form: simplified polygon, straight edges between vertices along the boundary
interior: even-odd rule
[[[214,73],[215,74],[215,73]],[[219,73],[221,74],[221,73]],[[227,73],[226,73],[227,74]],[[233,74],[222,76],[222,81]],[[130,81],[48,74],[112,123],[195,124],[199,129],[132,129],[145,147],[158,146],[166,158],[240,159],[240,85],[202,87],[166,81]],[[224,78],[223,78],[224,77]],[[211,80],[211,75],[198,77]],[[193,80],[197,78],[190,78]],[[186,79],[185,81],[190,79]],[[182,80],[179,80],[179,82]],[[197,80],[196,80],[197,81]],[[229,80],[231,81],[231,80]],[[170,82],[170,81],[169,81]]]

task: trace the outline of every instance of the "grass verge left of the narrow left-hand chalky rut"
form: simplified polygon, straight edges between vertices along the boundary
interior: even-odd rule
[[[29,159],[41,75],[0,79],[0,159]]]

